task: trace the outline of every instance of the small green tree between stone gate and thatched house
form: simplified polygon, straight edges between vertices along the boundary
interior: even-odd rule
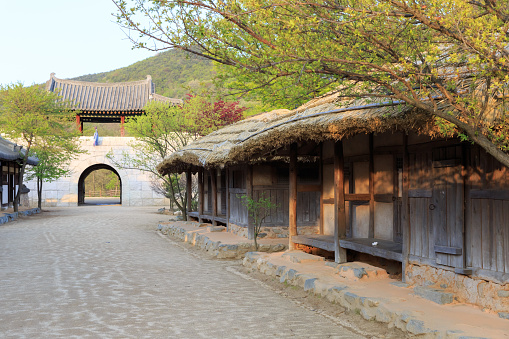
[[[124,152],[115,158],[110,152],[107,157],[121,168],[151,173],[155,178],[152,188],[171,199],[186,217],[185,176],[177,173],[162,176],[157,165],[192,140],[242,118],[244,109],[237,103],[216,104],[198,96],[188,96],[180,106],[152,101],[145,106],[144,115],[130,118],[125,124],[130,135],[136,138],[131,144],[136,156]],[[217,120],[211,123],[212,118]],[[195,198],[189,196],[189,199]]]

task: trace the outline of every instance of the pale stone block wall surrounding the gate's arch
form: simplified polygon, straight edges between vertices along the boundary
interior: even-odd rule
[[[122,181],[122,206],[164,206],[169,205],[169,199],[152,191],[151,174],[136,169],[121,169],[116,167],[106,154],[120,159],[123,152],[134,155],[129,146],[134,138],[128,137],[100,137],[99,146],[93,146],[92,137],[81,137],[80,142],[85,154],[81,154],[71,165],[71,174],[52,183],[45,182],[42,192],[43,207],[70,207],[78,205],[78,181],[81,174],[90,166],[106,164],[113,167]],[[37,182],[26,183],[30,189],[29,200],[31,206],[37,206]]]

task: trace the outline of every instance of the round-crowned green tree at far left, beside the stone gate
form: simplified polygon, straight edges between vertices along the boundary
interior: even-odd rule
[[[42,86],[25,87],[21,83],[0,87],[0,130],[13,140],[20,140],[25,147],[19,171],[19,186],[32,147],[52,146],[62,135],[68,135],[71,112],[67,103]],[[44,156],[43,156],[44,157]],[[21,190],[14,199],[18,210]]]

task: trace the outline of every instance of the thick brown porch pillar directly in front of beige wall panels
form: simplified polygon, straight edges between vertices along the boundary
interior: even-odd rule
[[[343,141],[339,140],[334,144],[334,259],[340,264],[346,262],[346,249],[339,244],[346,237],[344,159]]]

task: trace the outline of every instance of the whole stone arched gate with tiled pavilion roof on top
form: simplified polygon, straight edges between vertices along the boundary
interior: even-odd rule
[[[58,79],[54,73],[46,83],[50,92],[58,91],[62,100],[74,102],[76,124],[83,132],[83,123],[120,123],[123,136],[123,124],[126,119],[144,114],[148,102],[157,101],[168,106],[182,103],[180,99],[167,98],[155,93],[152,78],[122,83],[95,83],[76,80]],[[107,156],[112,154],[116,159],[124,155],[136,156],[130,147],[133,138],[105,137],[95,143],[92,137],[81,137],[81,144],[87,153],[73,160],[71,173],[53,183],[43,184],[42,206],[77,206],[84,201],[82,175],[92,166],[109,166],[115,170],[122,182],[122,206],[164,206],[169,201],[152,190],[154,178],[138,169],[116,168]],[[162,159],[160,159],[162,160]],[[84,175],[83,178],[85,178]],[[35,181],[27,183],[31,189],[31,205],[37,205]]]

